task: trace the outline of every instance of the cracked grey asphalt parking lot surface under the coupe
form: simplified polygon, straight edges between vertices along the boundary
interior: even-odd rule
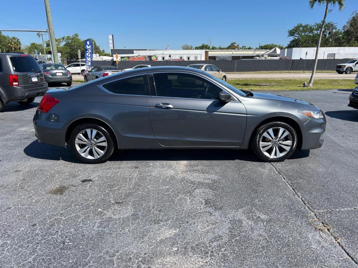
[[[250,151],[127,150],[86,165],[38,143],[40,98],[7,105],[0,267],[358,267],[350,92],[280,94],[317,104],[328,122],[322,148],[272,164]],[[313,212],[332,237],[309,224]]]

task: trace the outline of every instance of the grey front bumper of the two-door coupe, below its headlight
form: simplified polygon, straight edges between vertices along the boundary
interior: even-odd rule
[[[323,119],[310,119],[301,128],[303,128],[301,150],[316,149],[323,145],[323,133],[326,131],[325,117]]]

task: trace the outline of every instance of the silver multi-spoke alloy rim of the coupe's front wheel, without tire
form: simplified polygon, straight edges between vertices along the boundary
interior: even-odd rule
[[[292,147],[292,136],[287,129],[270,128],[260,137],[260,149],[269,158],[279,158],[287,154]]]

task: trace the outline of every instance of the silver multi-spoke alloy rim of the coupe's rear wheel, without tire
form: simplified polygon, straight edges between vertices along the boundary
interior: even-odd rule
[[[75,146],[77,152],[87,159],[98,159],[107,150],[105,136],[96,129],[84,129],[76,136]]]

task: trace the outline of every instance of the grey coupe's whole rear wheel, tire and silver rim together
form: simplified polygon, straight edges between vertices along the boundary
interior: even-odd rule
[[[84,163],[105,162],[113,153],[114,145],[108,131],[97,124],[81,124],[71,134],[71,149]]]

